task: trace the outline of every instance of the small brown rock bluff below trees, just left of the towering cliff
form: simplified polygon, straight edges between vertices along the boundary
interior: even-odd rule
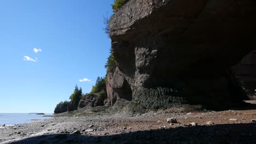
[[[85,107],[91,108],[96,106],[103,106],[106,99],[106,93],[104,91],[94,94],[85,94],[79,101],[78,110]]]

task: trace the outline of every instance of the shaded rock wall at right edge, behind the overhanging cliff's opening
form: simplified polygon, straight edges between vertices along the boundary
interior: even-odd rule
[[[232,70],[249,95],[256,95],[256,50],[246,55]]]

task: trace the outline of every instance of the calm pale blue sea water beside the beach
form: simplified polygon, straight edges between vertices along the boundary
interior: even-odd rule
[[[52,115],[46,114],[45,115]],[[0,113],[0,125],[11,125],[31,122],[31,119],[49,119],[45,115],[36,115],[36,113]]]

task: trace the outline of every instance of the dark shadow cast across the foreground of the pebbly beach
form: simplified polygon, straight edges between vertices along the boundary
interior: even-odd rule
[[[12,143],[256,143],[256,123],[178,127],[109,136],[54,134]]]

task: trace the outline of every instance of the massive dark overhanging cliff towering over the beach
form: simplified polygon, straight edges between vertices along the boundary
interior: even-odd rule
[[[131,0],[109,26],[112,104],[124,91],[148,109],[246,99],[229,69],[255,49],[255,1]]]

